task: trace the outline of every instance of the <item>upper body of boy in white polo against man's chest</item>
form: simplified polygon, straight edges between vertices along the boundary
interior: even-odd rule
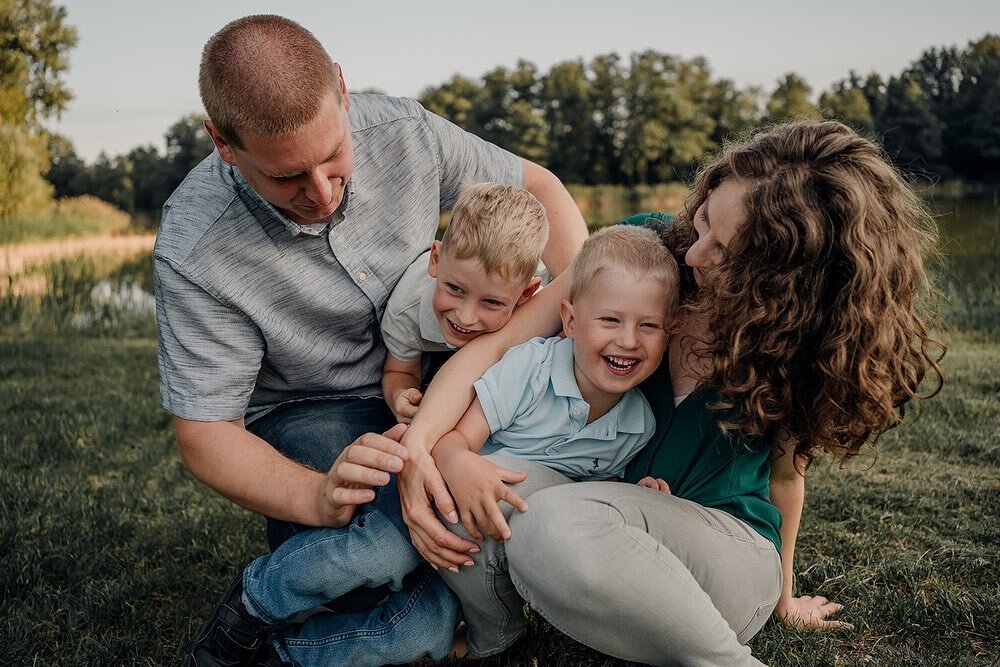
[[[454,352],[497,331],[531,298],[548,233],[545,209],[527,190],[462,189],[444,238],[406,270],[382,316],[382,393],[397,421],[409,424],[420,405],[424,352]]]

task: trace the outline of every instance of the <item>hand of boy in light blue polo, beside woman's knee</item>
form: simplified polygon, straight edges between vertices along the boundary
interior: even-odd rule
[[[455,451],[439,466],[469,535],[482,540],[482,528],[497,542],[510,539],[510,527],[498,503],[503,500],[519,512],[527,511],[524,499],[504,484],[523,482],[527,473],[501,468],[470,451]]]

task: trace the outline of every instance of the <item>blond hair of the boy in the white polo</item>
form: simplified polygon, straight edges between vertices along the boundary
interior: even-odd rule
[[[478,259],[489,275],[507,280],[535,275],[549,239],[545,207],[523,188],[477,183],[462,189],[441,239],[455,259]]]

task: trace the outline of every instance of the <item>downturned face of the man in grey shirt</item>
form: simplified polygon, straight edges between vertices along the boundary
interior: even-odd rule
[[[243,148],[219,137],[211,123],[206,126],[222,159],[238,167],[257,194],[292,222],[307,225],[329,220],[344,200],[354,171],[349,108],[346,91],[343,104],[331,93],[298,131],[271,138],[244,133]]]

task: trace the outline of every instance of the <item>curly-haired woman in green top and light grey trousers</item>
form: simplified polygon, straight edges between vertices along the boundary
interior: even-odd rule
[[[605,653],[759,664],[744,644],[772,612],[790,625],[838,624],[827,617],[840,605],[792,590],[809,462],[873,445],[900,423],[926,373],[932,394],[940,388],[941,348],[920,315],[933,223],[879,149],[836,122],[788,123],[725,147],[673,224],[641,220],[683,260],[685,305],[644,387],[657,432],[625,481],[663,478],[673,495],[550,486],[512,517],[511,540],[482,545],[485,560],[501,578],[509,566],[517,592],[556,628]],[[467,564],[471,543],[426,515],[428,493],[445,516],[452,508],[427,465],[439,435],[430,423],[454,423],[455,392],[468,397],[470,378],[505,346],[551,333],[552,318],[539,311],[558,294],[546,292],[503,340],[470,345],[446,366],[404,439],[404,506],[432,564]],[[515,632],[488,651],[517,638],[512,622]]]

